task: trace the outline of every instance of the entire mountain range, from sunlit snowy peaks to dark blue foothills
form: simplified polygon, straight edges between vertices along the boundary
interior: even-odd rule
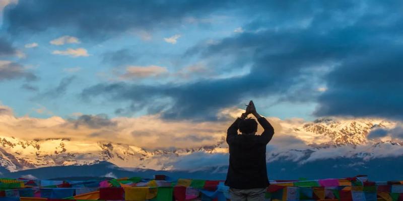
[[[403,143],[377,132],[399,122],[380,119],[322,118],[288,121],[267,146],[271,179],[346,177],[368,174],[374,180],[403,178]],[[140,175],[225,179],[228,145],[225,136],[211,146],[146,149],[66,138],[22,140],[0,137],[0,170],[4,176],[37,178]]]

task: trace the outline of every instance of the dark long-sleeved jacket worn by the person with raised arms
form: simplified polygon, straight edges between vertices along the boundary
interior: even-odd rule
[[[237,189],[265,188],[268,186],[266,171],[266,145],[274,135],[274,129],[265,118],[257,121],[263,127],[261,135],[238,135],[240,118],[228,128],[227,143],[230,150],[225,185]]]

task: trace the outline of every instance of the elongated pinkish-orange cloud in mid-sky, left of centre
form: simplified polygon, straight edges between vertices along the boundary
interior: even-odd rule
[[[120,75],[121,79],[133,79],[133,78],[146,78],[156,77],[167,73],[168,70],[165,67],[151,65],[151,66],[128,66],[125,72]]]

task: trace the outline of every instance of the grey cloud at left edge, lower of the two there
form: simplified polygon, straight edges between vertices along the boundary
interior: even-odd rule
[[[25,78],[27,81],[38,79],[35,74],[13,61],[0,60],[0,81]]]

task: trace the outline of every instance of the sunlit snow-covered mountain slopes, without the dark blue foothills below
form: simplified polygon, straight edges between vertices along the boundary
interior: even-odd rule
[[[397,122],[380,119],[340,119],[324,118],[313,122],[281,123],[282,135],[294,136],[305,143],[305,147],[279,149],[268,146],[267,161],[291,160],[299,164],[329,158],[372,158],[403,155],[403,146],[398,141],[371,141],[367,139],[370,131],[390,129]],[[272,142],[271,142],[272,143]],[[274,140],[274,145],[276,145]],[[47,166],[91,165],[108,161],[124,168],[147,168],[154,170],[186,169],[180,161],[190,161],[203,168],[201,160],[215,157],[217,161],[227,162],[228,146],[225,136],[211,146],[189,149],[146,150],[141,147],[111,142],[77,142],[71,139],[22,140],[2,137],[0,133],[0,165],[9,171],[19,171]],[[202,158],[203,157],[203,158]],[[206,158],[207,157],[207,158]],[[195,158],[195,159],[194,159]]]

